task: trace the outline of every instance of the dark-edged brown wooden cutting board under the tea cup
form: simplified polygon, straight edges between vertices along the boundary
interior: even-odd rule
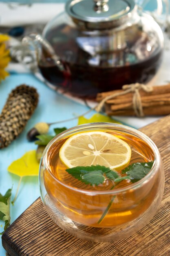
[[[165,192],[150,223],[137,234],[113,243],[77,239],[60,229],[40,198],[2,236],[10,256],[170,256],[170,116],[140,129],[157,145],[165,168]]]

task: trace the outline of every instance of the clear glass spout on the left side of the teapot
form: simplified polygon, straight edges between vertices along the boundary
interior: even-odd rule
[[[62,85],[64,83],[64,74],[66,73],[66,69],[60,60],[60,57],[55,54],[55,51],[51,44],[43,38],[39,34],[29,34],[28,36],[25,36],[22,39],[22,44],[29,46],[29,49],[32,53],[32,58],[34,59],[34,63],[36,62],[36,71],[35,71],[35,65],[34,67],[30,67],[31,71],[33,71],[35,74],[40,73],[43,78],[48,83],[51,83],[51,86],[53,88],[53,85],[55,86],[53,89],[56,89],[56,86]],[[49,70],[55,69],[55,74],[58,76],[58,81],[51,81],[51,76]]]

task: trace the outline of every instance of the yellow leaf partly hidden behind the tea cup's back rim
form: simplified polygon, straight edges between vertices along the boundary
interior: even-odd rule
[[[78,125],[80,124],[88,124],[88,123],[98,123],[98,122],[107,122],[107,123],[115,123],[115,124],[121,124],[120,122],[108,117],[108,116],[105,116],[105,115],[102,115],[102,114],[95,114],[93,115],[91,118],[87,119],[85,117],[79,117],[78,119]]]

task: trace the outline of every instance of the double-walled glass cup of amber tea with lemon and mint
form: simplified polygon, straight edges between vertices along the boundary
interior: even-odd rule
[[[92,123],[52,139],[40,162],[46,211],[66,232],[112,242],[139,231],[163,196],[159,150],[142,132],[124,125]]]

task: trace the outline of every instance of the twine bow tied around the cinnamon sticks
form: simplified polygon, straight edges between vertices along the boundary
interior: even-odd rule
[[[132,98],[132,104],[133,104],[133,109],[135,111],[135,114],[137,117],[144,117],[144,112],[142,108],[142,102],[141,102],[141,95],[139,93],[139,90],[144,90],[145,92],[152,92],[153,88],[150,85],[144,85],[142,83],[132,83],[130,85],[123,85],[122,89],[124,91],[122,92],[117,92],[113,93],[109,96],[106,96],[95,108],[97,112],[100,112],[100,110],[103,108],[104,103],[109,100],[113,99],[115,97],[127,94],[132,92],[133,93],[133,98]]]

